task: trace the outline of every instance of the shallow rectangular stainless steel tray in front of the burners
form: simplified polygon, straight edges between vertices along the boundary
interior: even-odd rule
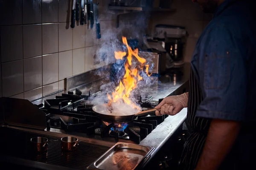
[[[152,150],[154,147],[117,142],[87,169],[135,170],[150,157]]]

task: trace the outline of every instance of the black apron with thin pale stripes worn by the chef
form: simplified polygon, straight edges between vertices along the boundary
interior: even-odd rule
[[[194,170],[204,148],[211,119],[196,117],[196,111],[201,101],[201,89],[191,69],[187,123],[192,132],[184,146],[180,159],[180,170]]]

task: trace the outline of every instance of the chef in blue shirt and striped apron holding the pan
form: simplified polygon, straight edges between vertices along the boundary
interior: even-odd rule
[[[245,170],[256,161],[255,5],[253,0],[192,1],[213,19],[192,56],[189,92],[163,99],[156,115],[188,108],[192,132],[180,170]]]

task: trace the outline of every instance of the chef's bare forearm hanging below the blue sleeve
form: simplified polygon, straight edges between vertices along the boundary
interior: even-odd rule
[[[217,170],[232,148],[240,127],[240,122],[213,119],[195,170]]]

